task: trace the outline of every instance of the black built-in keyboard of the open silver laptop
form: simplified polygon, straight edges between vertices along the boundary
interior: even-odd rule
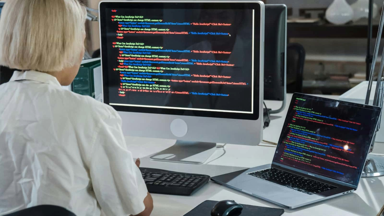
[[[263,169],[248,174],[310,195],[336,188],[329,184],[275,168]]]

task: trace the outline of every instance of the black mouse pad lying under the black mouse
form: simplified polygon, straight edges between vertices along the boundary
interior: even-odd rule
[[[185,214],[184,216],[210,216],[211,210],[215,206],[215,204],[218,201],[212,201],[207,200],[198,205],[196,208],[192,209],[189,213]],[[250,205],[244,205],[243,211],[240,214],[240,216],[255,216],[255,215],[262,215],[262,216],[280,216],[284,213],[284,209],[278,209],[278,208],[267,208],[267,207],[260,207],[260,206],[250,206]]]

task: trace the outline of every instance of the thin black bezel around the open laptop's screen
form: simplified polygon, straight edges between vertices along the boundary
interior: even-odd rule
[[[378,107],[378,106],[371,106],[371,105],[365,105],[365,104],[360,104],[360,103],[352,103],[352,102],[348,102],[348,101],[341,101],[341,100],[323,98],[323,97],[319,97],[319,96],[306,95],[306,94],[302,94],[302,93],[294,93],[293,94],[291,103],[289,105],[289,109],[293,108],[294,101],[295,101],[296,97],[305,97],[305,98],[310,98],[310,99],[314,99],[314,100],[323,100],[323,101],[329,101],[329,102],[339,102],[340,104],[343,104],[343,105],[357,106],[357,107],[360,107],[360,108],[366,108],[366,109],[371,109],[371,110],[379,111],[379,113],[381,113],[381,108]],[[290,121],[290,119],[288,119],[288,116],[286,116],[284,124],[283,124],[283,128],[288,126],[288,121]],[[377,121],[377,123],[378,123],[378,121]],[[374,139],[373,135],[374,135],[374,132],[373,132],[373,134],[371,136],[371,140],[369,140],[370,145],[372,143],[372,140]],[[283,140],[283,138],[284,138],[283,134],[280,134],[280,138],[279,138],[279,141],[278,141],[278,144],[277,144],[276,148],[278,148],[281,145],[281,141]],[[361,161],[361,169],[360,169],[359,176],[361,176],[361,174],[362,174],[364,163],[367,160],[368,151],[369,151],[369,148],[367,148],[367,152],[365,154],[364,160]],[[275,155],[273,156],[273,158],[275,158]],[[297,173],[301,173],[301,174],[303,174],[307,178],[321,179],[321,180],[324,180],[324,181],[328,181],[328,182],[332,182],[332,183],[335,183],[335,184],[351,187],[351,188],[354,188],[354,189],[356,189],[358,187],[359,181],[360,181],[360,179],[359,179],[357,181],[356,185],[355,184],[350,184],[350,183],[346,183],[344,181],[339,181],[339,180],[336,180],[336,179],[333,179],[333,178],[325,177],[325,176],[322,176],[320,174],[310,173],[310,172],[304,171],[302,169],[298,169],[298,168],[295,168],[295,167],[292,167],[292,166],[288,166],[286,164],[279,163],[276,160],[272,160],[272,166],[273,167],[281,167],[283,169],[287,169],[287,170],[295,171]]]

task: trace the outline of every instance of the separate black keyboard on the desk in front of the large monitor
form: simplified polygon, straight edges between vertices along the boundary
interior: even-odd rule
[[[164,169],[140,167],[140,171],[149,193],[189,196],[211,178],[207,175],[179,173]]]

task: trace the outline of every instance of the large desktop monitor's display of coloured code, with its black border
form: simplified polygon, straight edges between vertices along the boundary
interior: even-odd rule
[[[252,7],[111,4],[101,20],[104,100],[117,110],[258,118],[260,18]]]

